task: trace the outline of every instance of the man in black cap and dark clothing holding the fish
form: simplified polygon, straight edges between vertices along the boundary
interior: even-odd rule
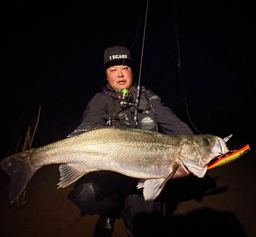
[[[115,46],[104,52],[104,68],[108,84],[88,103],[82,123],[106,125],[119,128],[142,128],[168,135],[193,135],[160,97],[141,87],[139,107],[135,107],[137,87],[133,84],[133,62],[125,47]],[[118,97],[119,90],[127,89],[127,97]],[[125,98],[125,99],[124,99]],[[126,103],[121,103],[122,99]],[[135,119],[137,110],[137,117]],[[81,214],[99,214],[94,237],[111,236],[116,218],[123,218],[129,236],[133,236],[134,219],[139,213],[161,213],[159,201],[145,203],[142,190],[136,189],[137,179],[117,173],[91,173],[80,178],[69,199]]]

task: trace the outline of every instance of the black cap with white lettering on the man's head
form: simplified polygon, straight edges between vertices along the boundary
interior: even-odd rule
[[[104,52],[104,68],[108,69],[112,66],[125,65],[133,67],[133,59],[130,57],[130,52],[123,46],[114,46],[108,48]]]

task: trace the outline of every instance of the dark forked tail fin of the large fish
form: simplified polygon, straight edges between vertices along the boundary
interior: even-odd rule
[[[11,203],[23,192],[36,170],[40,168],[32,169],[30,166],[29,160],[31,159],[31,153],[33,153],[34,149],[9,156],[1,162],[2,168],[11,177],[9,190]]]

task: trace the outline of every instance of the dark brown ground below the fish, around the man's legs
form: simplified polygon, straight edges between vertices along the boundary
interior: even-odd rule
[[[246,144],[244,144],[246,145]],[[241,147],[238,147],[241,148]],[[256,236],[255,155],[253,150],[228,165],[167,182],[163,190],[165,217],[144,216],[138,236]],[[26,189],[25,205],[8,200],[8,178],[2,171],[1,236],[89,237],[98,216],[80,216],[68,199],[73,185],[58,188],[58,165],[39,169]],[[117,219],[113,237],[127,237]]]

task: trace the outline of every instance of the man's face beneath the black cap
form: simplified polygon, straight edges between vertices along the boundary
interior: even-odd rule
[[[133,71],[128,66],[113,66],[106,70],[106,78],[115,91],[130,89],[133,83]]]

